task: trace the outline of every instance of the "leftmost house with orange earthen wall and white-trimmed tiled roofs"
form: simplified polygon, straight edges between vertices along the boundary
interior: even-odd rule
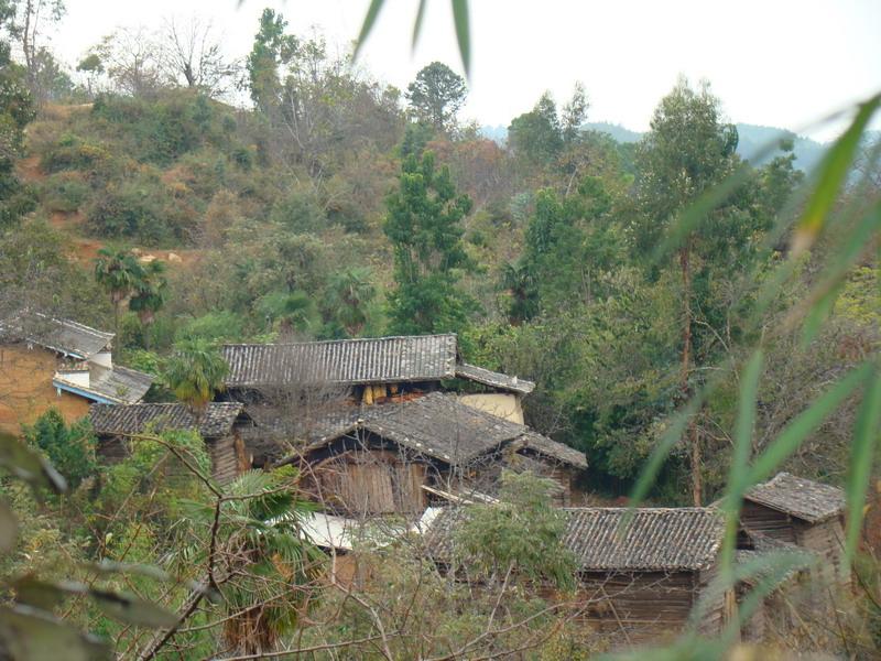
[[[37,312],[0,322],[0,429],[17,433],[50,408],[68,422],[94,402],[141,400],[153,377],[113,364],[112,333]]]

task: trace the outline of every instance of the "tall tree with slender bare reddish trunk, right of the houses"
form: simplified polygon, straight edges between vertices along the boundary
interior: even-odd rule
[[[642,226],[637,232],[644,250],[652,250],[677,216],[703,193],[718,185],[737,164],[737,129],[720,120],[719,100],[708,84],[693,89],[681,79],[654,111],[651,131],[640,145],[637,182]],[[717,223],[705,223],[693,231],[677,251],[682,281],[681,389],[683,399],[693,391],[695,292],[693,274],[696,256],[718,252],[729,246],[748,245],[748,231],[726,209],[715,209]],[[697,423],[688,427],[692,451],[693,499],[701,505],[701,457]]]

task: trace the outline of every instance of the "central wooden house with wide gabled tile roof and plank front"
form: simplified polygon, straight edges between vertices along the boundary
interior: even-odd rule
[[[558,505],[578,503],[587,467],[584,453],[444,392],[328,416],[282,463],[300,465],[306,488],[350,517],[418,514],[456,495],[491,498],[502,468],[544,475],[558,485]]]

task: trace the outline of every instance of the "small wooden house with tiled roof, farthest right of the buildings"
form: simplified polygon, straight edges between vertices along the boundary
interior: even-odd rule
[[[846,588],[849,572],[845,563],[845,492],[788,473],[750,489],[743,496],[739,546],[753,548],[757,535],[793,544],[817,554],[815,574]]]

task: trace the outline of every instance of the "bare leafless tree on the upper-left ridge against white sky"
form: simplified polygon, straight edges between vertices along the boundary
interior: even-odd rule
[[[221,96],[236,74],[227,62],[210,21],[193,17],[181,23],[165,21],[161,33],[162,68],[175,84],[198,90],[208,97]]]

